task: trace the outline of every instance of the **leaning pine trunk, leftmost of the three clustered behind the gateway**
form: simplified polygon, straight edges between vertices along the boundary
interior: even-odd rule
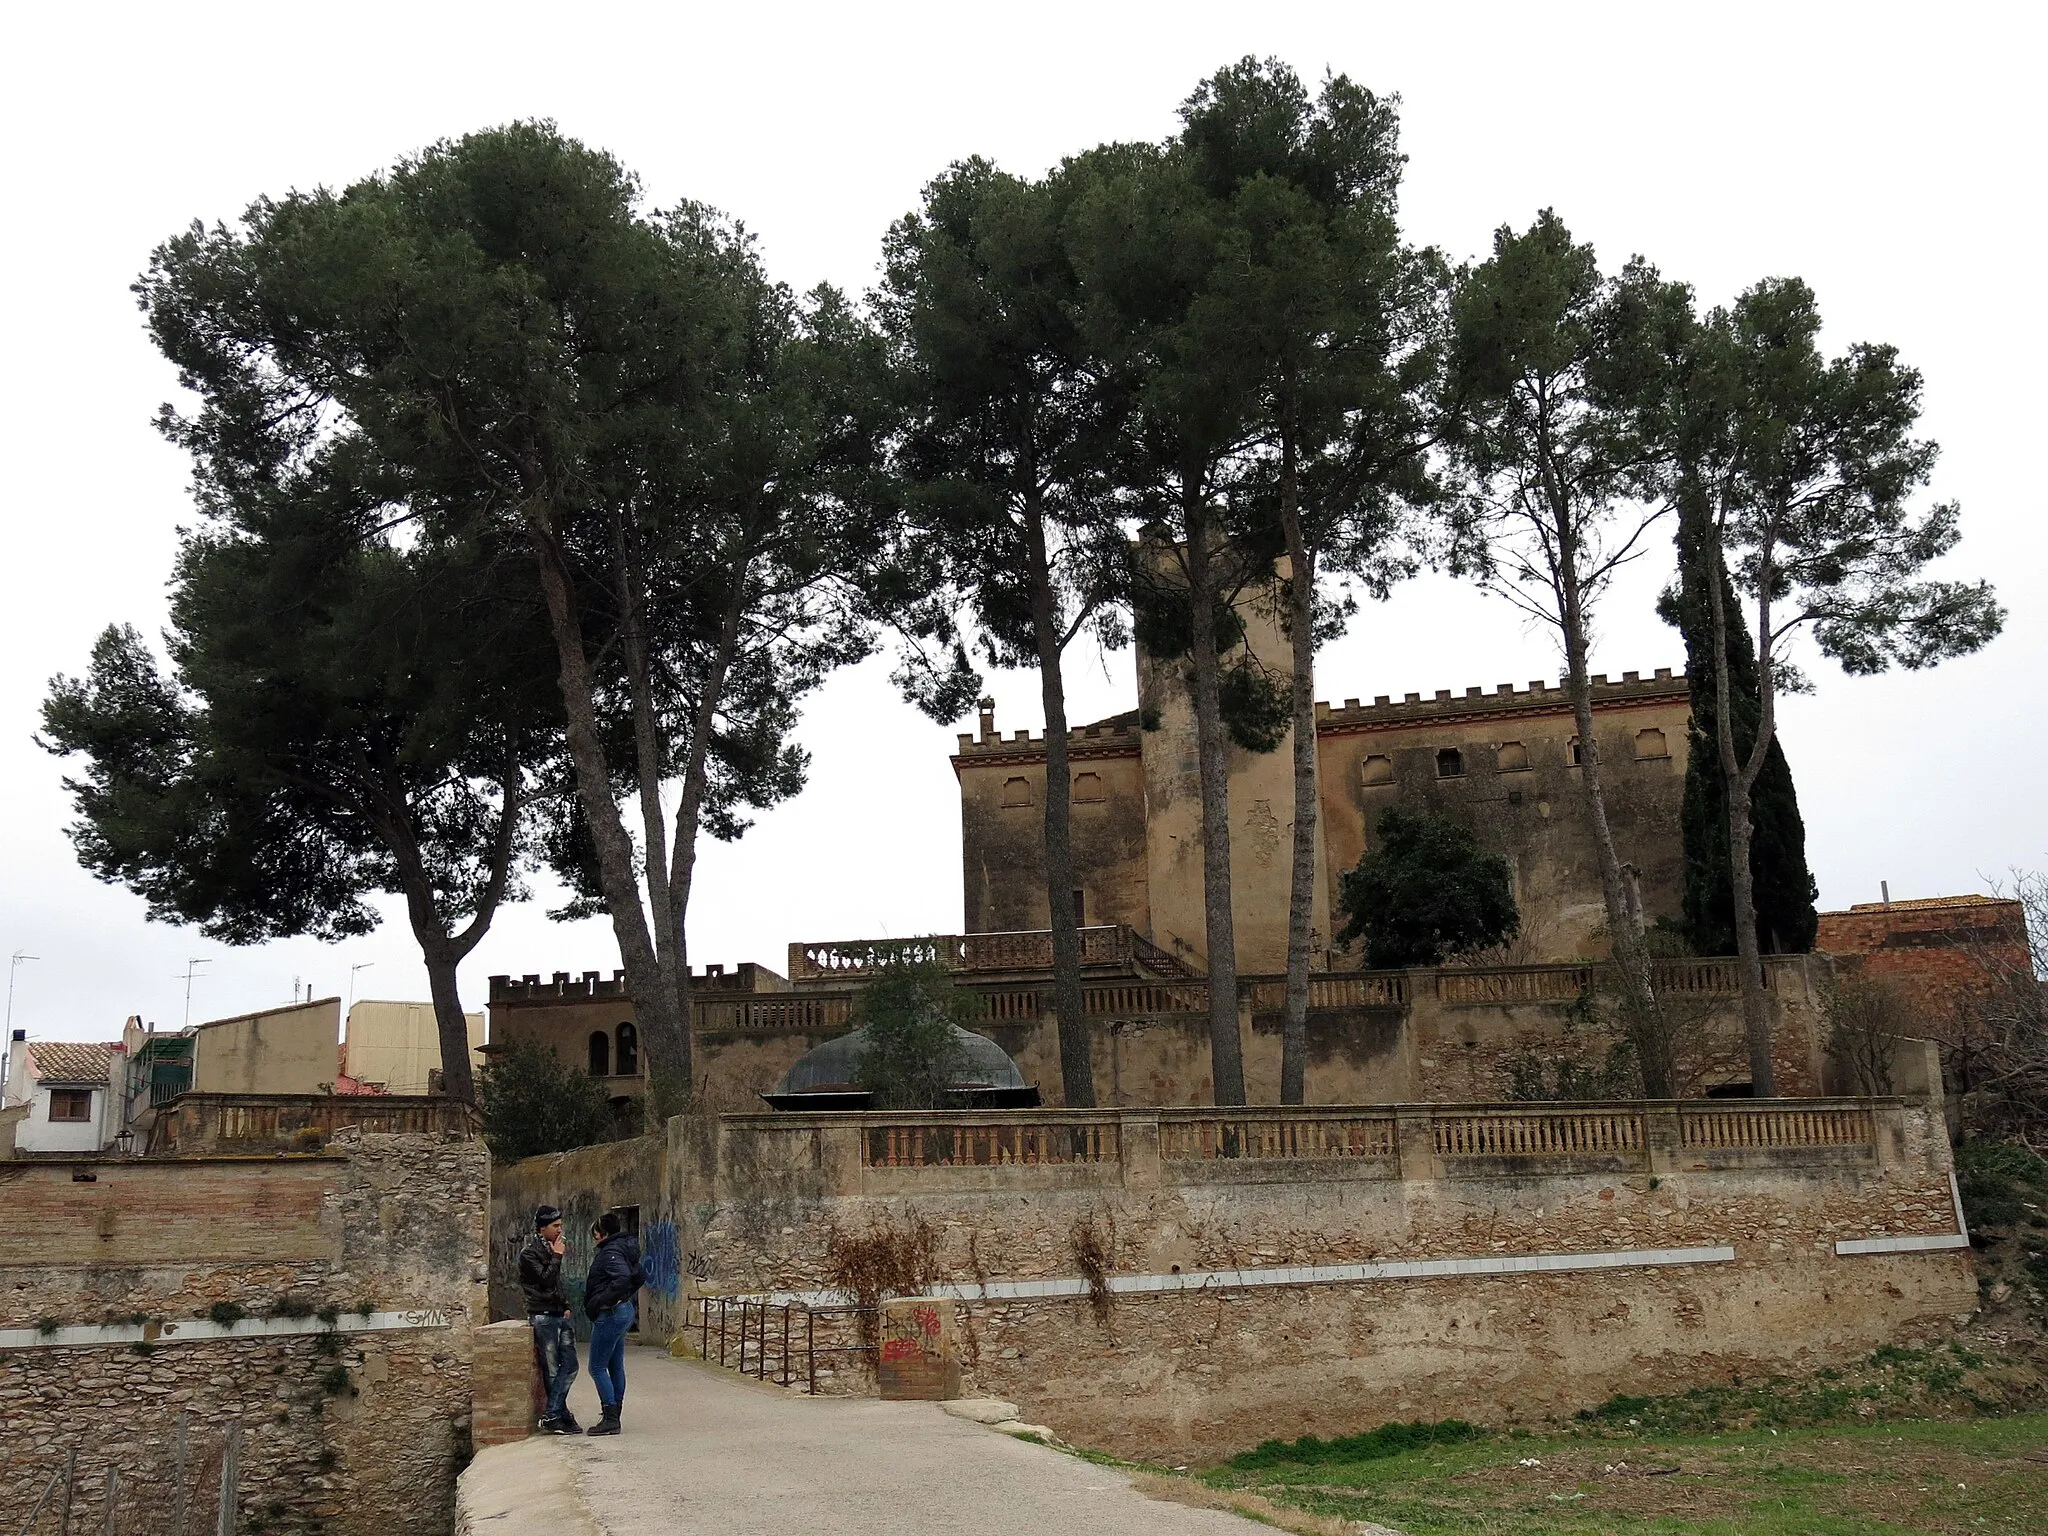
[[[662,973],[647,911],[641,907],[639,881],[633,872],[633,838],[627,836],[612,799],[612,780],[598,737],[596,686],[590,657],[584,651],[582,614],[575,602],[573,578],[545,510],[526,510],[528,539],[547,600],[549,631],[555,637],[557,680],[561,684],[563,737],[569,764],[575,768],[575,793],[590,821],[590,842],[598,858],[598,889],[612,918],[618,940],[618,961],[625,965],[627,987],[633,993],[633,1016],[639,1020],[641,1049],[649,1071],[688,1071],[688,1036],[678,1026],[676,991]]]

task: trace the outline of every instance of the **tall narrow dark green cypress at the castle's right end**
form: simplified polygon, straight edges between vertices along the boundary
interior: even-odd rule
[[[1686,934],[1702,954],[1735,954],[1735,891],[1729,879],[1729,793],[1714,745],[1718,709],[1714,700],[1714,610],[1708,584],[1706,502],[1679,498],[1677,571],[1679,580],[1661,604],[1667,623],[1686,639],[1686,680],[1692,688],[1690,752],[1686,756],[1686,803],[1679,831],[1686,846]],[[1747,758],[1757,739],[1763,705],[1757,698],[1757,649],[1749,625],[1722,575],[1729,614],[1729,694],[1735,705],[1735,750]],[[1749,866],[1757,885],[1757,944],[1767,954],[1804,954],[1812,948],[1819,915],[1819,887],[1806,868],[1806,823],[1798,813],[1798,791],[1784,745],[1772,741],[1763,772],[1751,795]]]

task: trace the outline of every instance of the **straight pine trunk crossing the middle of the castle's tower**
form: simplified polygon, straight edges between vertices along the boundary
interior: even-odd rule
[[[1217,1104],[1245,1102],[1237,1034],[1237,926],[1231,913],[1231,778],[1217,657],[1217,571],[1200,473],[1182,475],[1188,532],[1188,604],[1194,649],[1194,743],[1202,786],[1202,920],[1208,944],[1208,1055]]]

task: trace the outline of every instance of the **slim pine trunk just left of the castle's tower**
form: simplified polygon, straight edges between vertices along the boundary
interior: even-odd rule
[[[1053,1014],[1059,1020],[1059,1087],[1069,1110],[1096,1106],[1096,1063],[1081,995],[1081,915],[1073,907],[1073,774],[1067,766],[1067,684],[1061,674],[1059,614],[1044,516],[1024,508],[1030,565],[1030,623],[1044,702],[1044,897],[1053,928]]]

